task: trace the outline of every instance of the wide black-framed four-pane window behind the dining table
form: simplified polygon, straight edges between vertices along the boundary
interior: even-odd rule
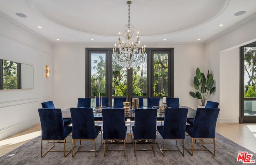
[[[173,97],[173,48],[147,48],[147,62],[126,69],[112,65],[112,48],[86,48],[85,96]]]

